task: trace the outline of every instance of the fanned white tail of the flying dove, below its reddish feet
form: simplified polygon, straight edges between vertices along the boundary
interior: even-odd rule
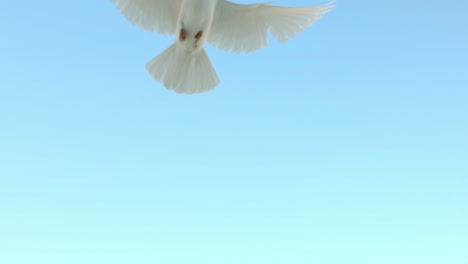
[[[146,64],[146,69],[168,90],[195,94],[209,91],[219,84],[204,49],[190,52],[173,44]]]

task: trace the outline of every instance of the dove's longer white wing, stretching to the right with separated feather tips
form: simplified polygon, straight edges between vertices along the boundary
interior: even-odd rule
[[[251,52],[268,45],[268,32],[280,42],[303,32],[333,7],[279,7],[270,3],[239,5],[219,0],[208,43],[233,52]]]

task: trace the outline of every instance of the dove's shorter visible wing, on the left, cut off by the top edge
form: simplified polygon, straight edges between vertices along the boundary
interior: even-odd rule
[[[181,0],[110,0],[132,24],[162,35],[174,34]]]

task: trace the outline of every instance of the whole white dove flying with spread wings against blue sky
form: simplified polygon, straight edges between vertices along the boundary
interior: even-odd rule
[[[280,42],[303,32],[330,11],[334,1],[314,7],[240,5],[226,0],[110,0],[133,24],[175,43],[148,62],[149,73],[169,90],[194,94],[219,84],[203,48],[248,53],[268,45],[268,32]]]

